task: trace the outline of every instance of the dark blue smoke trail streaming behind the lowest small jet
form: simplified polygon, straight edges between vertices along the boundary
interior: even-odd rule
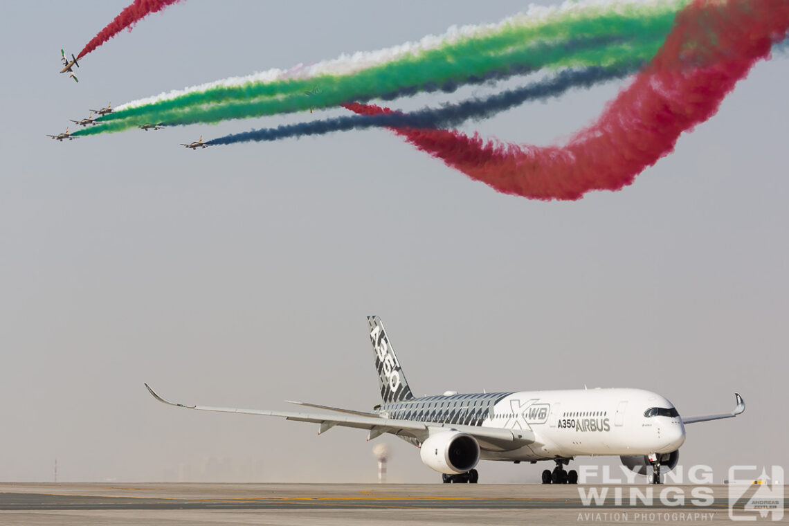
[[[638,71],[640,66],[641,62],[633,62],[609,67],[594,66],[585,69],[567,69],[522,88],[514,88],[488,97],[470,99],[462,103],[446,104],[439,108],[427,108],[412,111],[408,114],[384,111],[381,114],[338,117],[323,119],[322,121],[281,125],[277,128],[255,129],[249,132],[218,137],[208,141],[206,144],[272,141],[375,127],[443,128],[457,126],[469,119],[490,118],[494,114],[509,110],[528,101],[557,97],[563,95],[571,88],[590,88],[594,84],[621,79]],[[343,106],[350,110],[357,110],[363,107],[358,103]]]

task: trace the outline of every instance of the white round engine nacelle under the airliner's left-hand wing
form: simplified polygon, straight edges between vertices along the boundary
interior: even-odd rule
[[[458,475],[473,469],[480,460],[480,444],[468,433],[443,431],[422,442],[419,456],[428,468]]]

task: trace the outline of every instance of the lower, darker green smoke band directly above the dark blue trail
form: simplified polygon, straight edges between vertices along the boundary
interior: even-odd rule
[[[647,35],[652,36],[652,35]],[[617,39],[618,40],[618,39]],[[158,121],[168,125],[188,125],[197,122],[215,123],[228,119],[253,118],[274,114],[305,111],[310,107],[339,106],[352,100],[366,101],[382,95],[402,90],[404,87],[417,86],[421,91],[435,89],[437,80],[443,80],[442,88],[446,88],[449,79],[454,78],[455,87],[465,82],[478,82],[491,72],[519,73],[523,70],[543,68],[584,67],[589,65],[606,65],[633,60],[649,60],[663,41],[663,35],[647,41],[637,40],[624,43],[613,43],[597,46],[598,39],[573,41],[570,43],[551,43],[510,50],[505,56],[466,57],[447,63],[443,60],[426,68],[420,65],[417,76],[413,71],[391,75],[387,69],[376,71],[365,70],[352,76],[333,77],[333,84],[323,84],[321,92],[307,97],[298,91],[295,95],[285,97],[257,98],[251,101],[225,103],[217,105],[198,105],[185,110],[154,111],[134,118],[109,121],[83,129],[79,135],[94,135],[102,132],[118,132],[144,122]],[[591,47],[587,48],[585,44]],[[451,70],[452,75],[441,74]],[[111,114],[110,114],[111,115]]]

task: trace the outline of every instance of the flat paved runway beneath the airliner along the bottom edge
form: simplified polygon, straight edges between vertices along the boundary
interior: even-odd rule
[[[589,502],[593,487],[484,484],[0,483],[2,524],[709,524],[730,520],[728,487],[709,503],[680,486],[661,502],[629,505],[630,487]],[[595,487],[601,491],[605,487]],[[641,493],[648,487],[635,487]],[[579,493],[579,489],[583,493]],[[677,495],[686,502],[675,505]],[[740,506],[741,508],[742,506]],[[786,520],[786,519],[784,519]]]

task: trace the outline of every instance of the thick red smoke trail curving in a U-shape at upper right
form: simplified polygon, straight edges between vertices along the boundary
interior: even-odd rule
[[[443,129],[394,132],[498,192],[578,200],[590,190],[619,190],[671,153],[682,132],[712,117],[787,28],[789,0],[697,0],[678,14],[653,61],[565,147],[486,142]],[[359,114],[388,111],[346,107]]]

